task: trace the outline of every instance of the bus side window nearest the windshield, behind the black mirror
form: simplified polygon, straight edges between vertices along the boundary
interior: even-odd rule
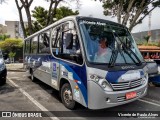
[[[72,39],[71,44],[69,49],[67,48],[66,42],[69,42],[70,40],[67,41],[68,36],[70,36],[70,39]],[[62,59],[69,60],[71,62],[75,62],[78,64],[83,63],[82,55],[81,55],[81,50],[80,50],[80,43],[78,39],[78,35],[76,32],[76,29],[74,27],[73,22],[68,22],[63,25],[62,29]]]

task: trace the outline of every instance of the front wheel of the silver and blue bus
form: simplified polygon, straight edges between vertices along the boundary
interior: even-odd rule
[[[73,93],[69,83],[65,83],[61,88],[61,99],[64,106],[68,109],[75,109],[76,102],[73,100]]]

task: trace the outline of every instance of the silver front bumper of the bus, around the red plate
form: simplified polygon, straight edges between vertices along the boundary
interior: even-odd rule
[[[126,104],[135,101],[146,95],[148,82],[144,85],[123,91],[104,91],[97,83],[88,81],[88,108],[89,109],[104,109]],[[126,99],[126,93],[136,92],[137,96],[132,99]]]

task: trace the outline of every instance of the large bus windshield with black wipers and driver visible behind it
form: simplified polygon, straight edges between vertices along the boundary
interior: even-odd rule
[[[86,57],[95,64],[140,64],[144,62],[128,29],[96,20],[80,20]]]

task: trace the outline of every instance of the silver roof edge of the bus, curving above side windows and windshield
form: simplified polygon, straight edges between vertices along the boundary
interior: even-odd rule
[[[115,25],[120,26],[120,27],[125,27],[125,26],[123,26],[123,25],[121,25],[121,24],[119,24],[119,23],[112,22],[112,21],[105,20],[105,19],[101,19],[101,18],[86,17],[86,16],[68,16],[68,17],[62,18],[62,19],[54,22],[53,24],[51,24],[51,25],[49,25],[49,26],[41,29],[40,31],[38,31],[38,32],[36,32],[36,33],[28,36],[27,38],[25,38],[25,40],[30,39],[30,38],[34,37],[35,35],[43,32],[43,31],[46,31],[46,30],[48,30],[49,28],[51,28],[51,27],[53,27],[53,26],[55,26],[55,25],[58,25],[58,24],[60,24],[60,23],[62,23],[62,22],[65,22],[65,21],[67,21],[67,20],[77,20],[77,21],[78,21],[78,20],[81,20],[81,19],[83,19],[83,20],[85,19],[85,20],[100,21],[100,22],[107,22],[107,23],[109,23],[109,24],[115,24]],[[125,28],[127,28],[127,27],[125,27]]]

